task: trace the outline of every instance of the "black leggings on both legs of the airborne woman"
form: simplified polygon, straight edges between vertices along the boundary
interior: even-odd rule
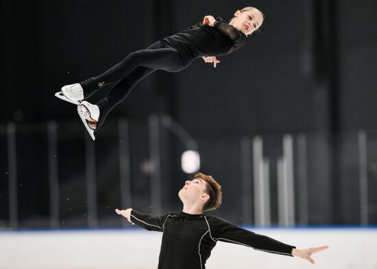
[[[189,64],[186,64],[186,66],[189,66]],[[186,66],[184,66],[177,49],[171,47],[165,41],[158,40],[146,49],[131,53],[122,62],[112,66],[105,73],[81,82],[80,84],[84,89],[84,97],[87,99],[99,88],[117,81],[117,84],[112,87],[108,95],[96,103],[100,112],[96,130],[104,123],[109,112],[121,103],[130,94],[132,88],[147,75],[156,70],[178,72],[186,68]]]

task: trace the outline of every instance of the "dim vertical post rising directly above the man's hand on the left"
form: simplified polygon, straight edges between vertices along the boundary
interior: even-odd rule
[[[131,194],[131,169],[130,169],[130,138],[128,136],[127,120],[119,120],[119,180],[121,185],[121,207],[132,207]],[[122,226],[128,224],[126,218],[122,218]]]

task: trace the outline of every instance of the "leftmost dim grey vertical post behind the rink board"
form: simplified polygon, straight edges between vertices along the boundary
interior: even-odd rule
[[[9,177],[9,219],[10,227],[19,227],[19,203],[17,197],[17,152],[16,125],[8,123],[8,177]]]

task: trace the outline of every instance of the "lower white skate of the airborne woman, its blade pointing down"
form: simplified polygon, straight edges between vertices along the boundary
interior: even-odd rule
[[[88,103],[87,101],[82,101],[80,105],[77,106],[77,113],[79,114],[82,123],[88,131],[90,137],[95,140],[95,129],[97,128],[98,118],[99,118],[99,107]]]

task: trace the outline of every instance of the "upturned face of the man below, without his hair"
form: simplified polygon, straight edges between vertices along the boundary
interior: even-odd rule
[[[183,188],[178,192],[182,202],[195,203],[199,200],[206,202],[208,194],[206,193],[206,181],[202,179],[193,179],[186,181]]]

